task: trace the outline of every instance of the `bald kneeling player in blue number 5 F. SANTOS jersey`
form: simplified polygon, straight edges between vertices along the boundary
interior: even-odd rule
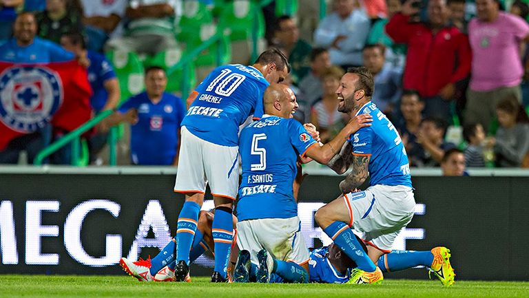
[[[341,148],[350,134],[369,125],[364,122],[371,116],[354,117],[338,136],[320,147],[292,118],[298,103],[287,85],[270,85],[263,100],[264,116],[240,133],[239,262],[251,262],[253,268],[258,268],[258,282],[268,282],[271,273],[287,281],[307,282],[309,251],[300,233],[298,205],[293,196],[296,161],[298,156],[307,156],[326,164],[338,153],[334,148]],[[238,267],[246,270],[236,273],[236,281],[248,281],[251,269]]]

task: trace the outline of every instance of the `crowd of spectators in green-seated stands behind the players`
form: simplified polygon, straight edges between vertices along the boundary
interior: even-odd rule
[[[225,28],[222,62],[251,65],[258,16],[260,47],[277,47],[292,65],[285,83],[298,98],[295,118],[313,123],[323,142],[349,120],[337,111],[340,77],[365,66],[373,102],[400,132],[411,167],[445,169],[461,153],[466,167],[529,167],[529,1],[327,0],[319,21],[318,1],[293,1],[290,15],[284,1],[262,10],[259,2],[0,0],[0,62],[85,67],[92,116],[115,111],[84,135],[90,163],[107,156],[110,127],[127,122],[122,164],[176,164],[187,94],[171,67]],[[194,61],[195,85],[216,66],[216,47]],[[31,163],[68,132],[46,125],[13,138],[0,163],[19,163],[21,151]],[[69,154],[65,148],[49,162],[68,164]]]

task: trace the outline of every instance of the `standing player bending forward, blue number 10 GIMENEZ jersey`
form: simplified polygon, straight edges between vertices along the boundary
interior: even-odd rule
[[[253,114],[262,116],[262,94],[269,83],[283,81],[290,71],[280,51],[262,52],[252,66],[223,65],[213,70],[191,93],[192,101],[182,122],[182,145],[174,191],[185,194],[178,216],[176,280],[189,272],[189,249],[198,212],[209,184],[216,207],[213,222],[215,268],[211,281],[226,281],[227,259],[233,226],[239,165],[238,132]]]

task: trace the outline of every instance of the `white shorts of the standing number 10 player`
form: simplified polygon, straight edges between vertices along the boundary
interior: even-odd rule
[[[180,156],[174,191],[205,193],[209,184],[212,195],[237,198],[239,184],[238,147],[216,145],[180,129]]]

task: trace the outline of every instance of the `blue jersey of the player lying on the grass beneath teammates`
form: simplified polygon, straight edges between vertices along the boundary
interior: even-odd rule
[[[347,273],[342,276],[334,268],[327,254],[329,248],[327,246],[316,248],[311,252],[311,259],[309,259],[309,282],[320,283],[320,284],[344,284],[351,279],[351,273],[347,270]],[[275,273],[270,275],[271,283],[282,283],[284,279]]]

